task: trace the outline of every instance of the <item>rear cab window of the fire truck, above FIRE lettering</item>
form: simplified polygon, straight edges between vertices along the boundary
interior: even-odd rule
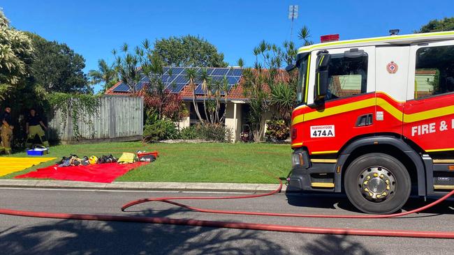
[[[415,99],[454,91],[454,46],[416,51]]]

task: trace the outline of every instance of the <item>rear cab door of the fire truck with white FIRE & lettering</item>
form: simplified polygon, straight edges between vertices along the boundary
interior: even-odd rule
[[[454,155],[454,41],[412,45],[404,136],[426,153]]]

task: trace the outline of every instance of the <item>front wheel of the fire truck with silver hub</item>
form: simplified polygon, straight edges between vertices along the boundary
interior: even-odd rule
[[[395,157],[369,153],[353,160],[346,169],[344,187],[353,206],[367,213],[389,214],[407,202],[411,179]]]

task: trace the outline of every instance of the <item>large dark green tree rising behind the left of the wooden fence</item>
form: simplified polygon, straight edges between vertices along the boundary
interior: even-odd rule
[[[31,63],[31,76],[47,92],[88,93],[85,59],[65,43],[47,41],[35,33],[27,32],[33,42],[34,61]]]

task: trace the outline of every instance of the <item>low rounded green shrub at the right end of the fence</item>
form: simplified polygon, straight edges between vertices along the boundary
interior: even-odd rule
[[[173,121],[164,119],[154,121],[143,128],[143,139],[145,141],[160,141],[166,139],[178,139],[178,130]]]

